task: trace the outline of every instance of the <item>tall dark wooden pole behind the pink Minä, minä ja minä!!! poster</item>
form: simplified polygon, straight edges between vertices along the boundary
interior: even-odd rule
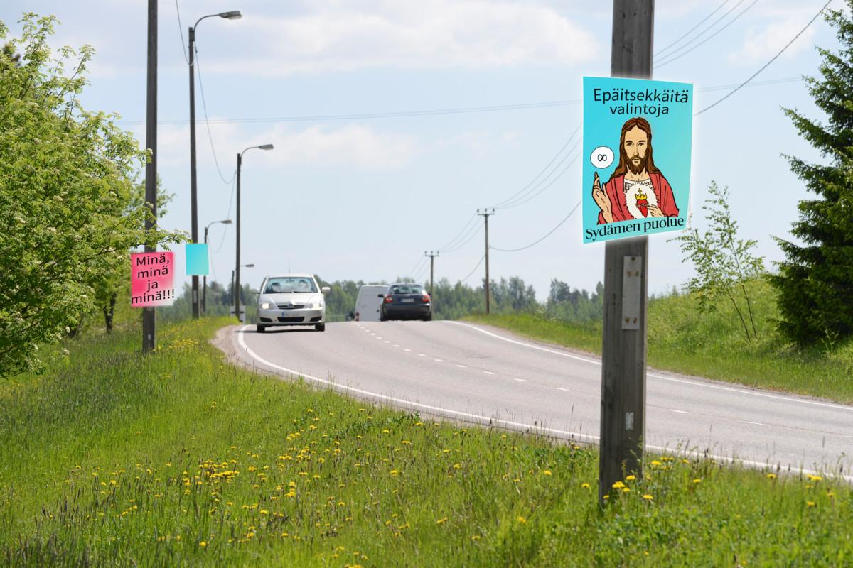
[[[148,0],[148,94],[145,126],[145,147],[151,152],[145,164],[145,203],[153,218],[145,218],[145,230],[157,224],[157,0]],[[145,244],[145,252],[155,252]],[[142,308],[142,353],[157,345],[157,312],[154,307]]]

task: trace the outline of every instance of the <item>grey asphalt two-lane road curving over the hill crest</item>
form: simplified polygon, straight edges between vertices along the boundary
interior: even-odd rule
[[[422,413],[597,442],[601,361],[458,322],[225,330],[246,364]],[[853,406],[648,370],[647,450],[843,473]]]

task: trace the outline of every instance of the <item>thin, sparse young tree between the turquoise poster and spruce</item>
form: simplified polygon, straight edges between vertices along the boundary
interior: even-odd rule
[[[699,310],[713,311],[720,296],[728,298],[740,318],[746,339],[750,340],[757,336],[757,329],[746,281],[763,273],[763,258],[751,253],[756,241],[737,237],[738,223],[728,205],[728,187],[720,189],[716,181],[711,181],[708,192],[702,209],[708,212],[709,229],[700,233],[698,228],[690,227],[670,240],[681,244],[684,260],[693,261],[696,268],[696,276],[688,280],[687,289],[698,295]],[[740,296],[744,307],[740,305]]]

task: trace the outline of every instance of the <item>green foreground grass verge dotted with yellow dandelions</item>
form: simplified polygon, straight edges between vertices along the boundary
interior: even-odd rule
[[[0,384],[8,565],[845,565],[829,479],[597,453],[378,408],[223,363],[226,320],[73,341]]]

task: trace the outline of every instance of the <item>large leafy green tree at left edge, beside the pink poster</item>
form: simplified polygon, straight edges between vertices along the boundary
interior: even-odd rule
[[[53,57],[54,22],[25,14],[3,51],[20,44],[20,60],[0,56],[0,376],[38,369],[39,344],[78,328],[97,279],[132,247],[178,238],[145,232],[150,211],[128,209],[145,154],[112,116],[80,106],[92,49]]]

